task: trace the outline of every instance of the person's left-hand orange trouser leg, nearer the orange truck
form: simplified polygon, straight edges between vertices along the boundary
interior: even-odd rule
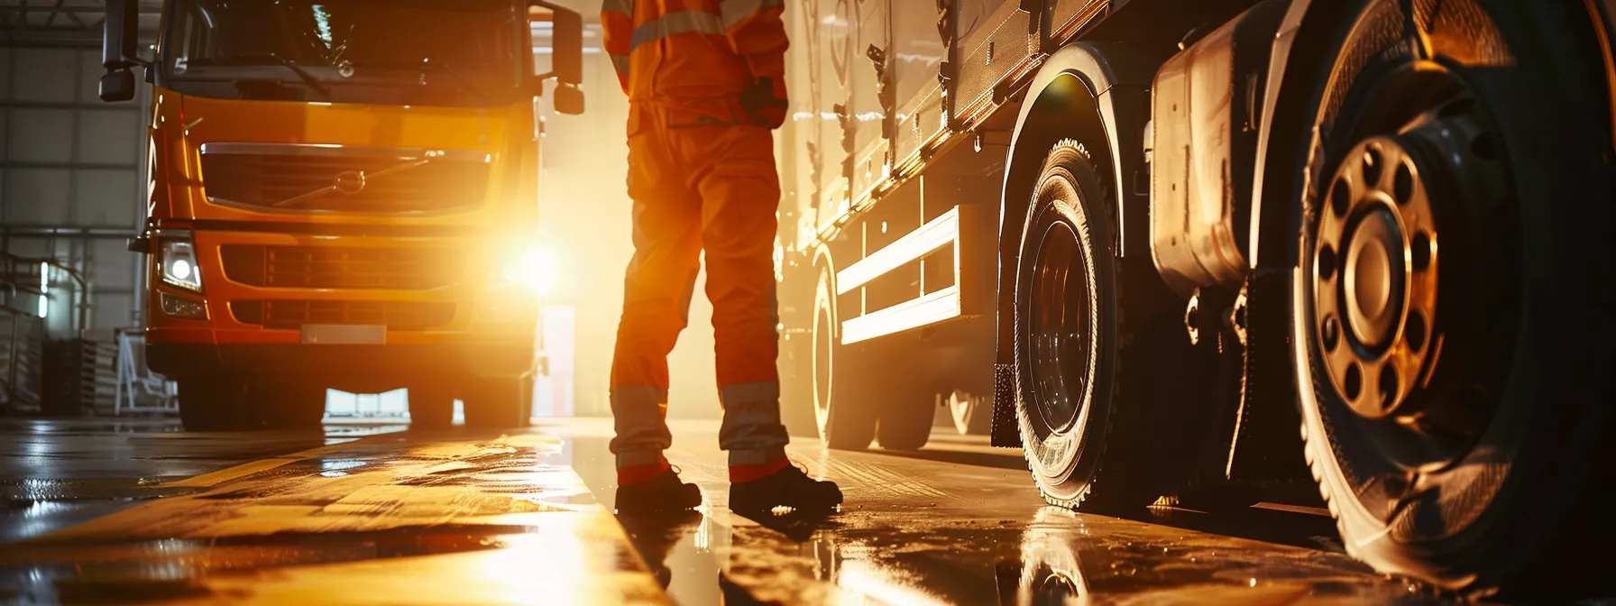
[[[633,259],[624,280],[622,318],[611,367],[611,409],[621,486],[667,470],[667,354],[688,323],[701,254],[701,202],[685,187],[653,112],[632,112],[629,197]]]

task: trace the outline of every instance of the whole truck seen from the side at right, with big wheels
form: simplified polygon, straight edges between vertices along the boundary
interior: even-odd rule
[[[1382,572],[1610,590],[1611,2],[798,8],[795,431],[950,402],[1050,504],[1314,483]]]

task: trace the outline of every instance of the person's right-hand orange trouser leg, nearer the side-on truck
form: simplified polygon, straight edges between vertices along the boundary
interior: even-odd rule
[[[774,141],[763,128],[701,129],[711,134],[709,170],[698,176],[706,294],[713,301],[719,446],[730,482],[756,480],[787,465],[776,370],[779,312],[774,239],[781,184]]]

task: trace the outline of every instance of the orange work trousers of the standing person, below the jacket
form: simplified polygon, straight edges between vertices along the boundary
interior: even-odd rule
[[[682,112],[630,107],[633,260],[612,354],[619,465],[654,464],[671,444],[667,354],[688,322],[706,254],[706,294],[730,464],[784,457],[776,373],[779,314],[774,236],[779,176],[772,134],[758,126],[680,126]],[[675,126],[675,128],[669,128]]]

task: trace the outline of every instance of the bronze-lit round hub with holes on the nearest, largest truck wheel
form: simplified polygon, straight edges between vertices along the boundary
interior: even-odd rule
[[[1325,367],[1353,412],[1404,410],[1437,320],[1433,166],[1401,137],[1354,147],[1319,212],[1314,326]]]

